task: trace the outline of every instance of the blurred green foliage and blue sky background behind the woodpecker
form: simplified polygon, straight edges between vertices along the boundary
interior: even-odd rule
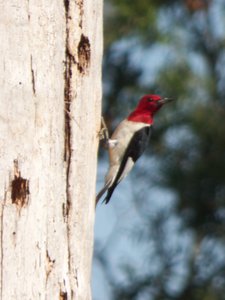
[[[94,299],[225,299],[225,2],[106,0],[104,28],[110,132],[143,94],[176,102],[97,208]]]

